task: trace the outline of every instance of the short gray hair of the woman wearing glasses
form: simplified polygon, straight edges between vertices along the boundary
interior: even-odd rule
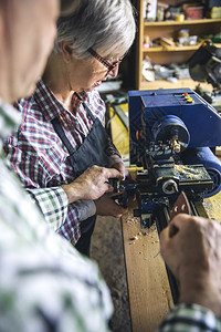
[[[134,42],[135,31],[129,0],[81,0],[72,15],[57,20],[54,52],[61,51],[62,41],[71,41],[77,59],[87,58],[90,48],[102,51],[102,56],[124,55]]]

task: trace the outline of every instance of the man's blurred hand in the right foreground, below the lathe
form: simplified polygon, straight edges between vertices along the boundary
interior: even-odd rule
[[[201,304],[221,317],[219,222],[177,215],[160,234],[160,252],[178,280],[179,301]]]

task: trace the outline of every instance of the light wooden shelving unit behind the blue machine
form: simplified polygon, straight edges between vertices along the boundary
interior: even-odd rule
[[[202,19],[202,20],[186,20],[183,22],[177,21],[161,21],[161,22],[145,22],[143,15],[143,0],[136,1],[137,11],[139,14],[138,22],[138,40],[137,40],[137,59],[136,59],[136,89],[170,89],[170,87],[190,87],[194,89],[198,82],[188,80],[179,80],[176,84],[166,80],[156,80],[147,82],[143,76],[143,60],[149,56],[151,63],[168,65],[170,63],[185,63],[200,46],[167,46],[165,48],[144,48],[144,38],[148,35],[151,40],[166,37],[178,37],[181,29],[189,29],[190,35],[215,34],[221,32],[221,19]],[[220,45],[221,46],[221,45]],[[200,83],[204,89],[211,90],[212,86],[207,83]]]

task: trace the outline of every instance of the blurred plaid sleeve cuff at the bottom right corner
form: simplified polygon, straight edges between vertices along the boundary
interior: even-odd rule
[[[221,321],[198,304],[180,304],[162,321],[157,332],[220,332]]]

